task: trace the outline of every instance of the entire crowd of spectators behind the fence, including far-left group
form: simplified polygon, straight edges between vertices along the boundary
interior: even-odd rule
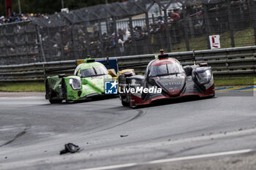
[[[211,32],[222,33],[228,29],[227,4],[225,2],[219,4],[211,4],[211,0],[207,4],[209,27]],[[233,28],[241,29],[249,25],[249,6],[247,0],[230,1],[231,13],[233,14]],[[190,23],[184,24],[184,14],[181,9],[169,9],[167,18],[158,16],[150,20],[149,26],[136,26],[132,29],[116,28],[99,33],[96,25],[92,30],[86,30],[84,25],[75,24],[75,26],[65,26],[64,28],[50,28],[42,34],[42,42],[44,49],[48,49],[49,56],[72,58],[74,55],[80,55],[81,58],[85,54],[89,54],[94,58],[116,55],[135,55],[143,53],[155,53],[160,48],[166,48],[167,42],[176,44],[184,38],[184,26],[187,26],[189,36],[202,35],[206,33],[206,24],[204,23],[204,13],[202,4],[195,4],[187,7],[187,15],[189,15]],[[12,13],[9,18],[1,16],[0,24],[13,23],[29,18],[47,18],[42,14],[22,14],[16,15]],[[246,19],[247,18],[247,19]],[[167,23],[166,23],[167,21]],[[247,24],[248,23],[248,24]],[[117,34],[116,34],[117,33]],[[168,34],[168,36],[167,36]],[[47,52],[45,52],[48,54]],[[68,56],[69,55],[69,56]],[[64,58],[66,59],[66,58]]]

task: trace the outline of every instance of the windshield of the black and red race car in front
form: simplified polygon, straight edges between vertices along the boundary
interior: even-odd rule
[[[150,69],[150,76],[165,76],[170,74],[182,73],[184,70],[179,63],[165,63],[159,66],[152,66]]]

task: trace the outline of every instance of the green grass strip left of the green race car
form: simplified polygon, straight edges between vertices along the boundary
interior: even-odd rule
[[[0,91],[41,92],[45,91],[44,82],[0,82]]]

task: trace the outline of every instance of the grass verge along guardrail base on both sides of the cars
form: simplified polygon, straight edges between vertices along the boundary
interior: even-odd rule
[[[255,78],[215,79],[215,86],[256,85]],[[44,82],[0,82],[0,91],[45,92]]]

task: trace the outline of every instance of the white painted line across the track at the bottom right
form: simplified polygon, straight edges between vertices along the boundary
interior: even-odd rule
[[[156,163],[168,163],[168,162],[174,162],[174,161],[187,161],[187,160],[199,159],[199,158],[212,158],[212,157],[225,156],[225,155],[237,155],[237,154],[248,153],[248,152],[252,152],[252,151],[253,150],[234,150],[234,151],[229,151],[229,152],[217,152],[217,153],[209,153],[209,154],[203,154],[203,155],[192,155],[192,156],[185,156],[185,157],[178,157],[178,158],[148,161],[148,162],[143,162],[143,163],[125,163],[125,164],[119,164],[119,165],[113,165],[113,166],[101,166],[101,167],[96,167],[96,168],[91,168],[91,169],[80,169],[80,170],[120,169],[120,168],[149,165],[149,164],[156,164]]]

